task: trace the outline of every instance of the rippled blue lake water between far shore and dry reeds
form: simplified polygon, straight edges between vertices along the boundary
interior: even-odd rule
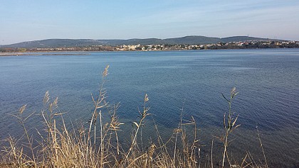
[[[201,144],[209,146],[214,136],[221,135],[227,111],[221,93],[229,96],[236,86],[239,94],[233,110],[240,115],[241,127],[235,132],[231,151],[239,156],[249,151],[256,161],[261,159],[258,126],[269,164],[299,166],[298,49],[0,57],[0,138],[21,135],[8,113],[16,113],[23,104],[28,113],[38,113],[46,91],[59,97],[58,105],[68,112],[67,118],[88,121],[93,108],[90,94],[98,91],[105,65],[110,65],[105,85],[108,100],[120,102],[118,113],[127,125],[136,120],[138,107],[148,94],[154,114],[148,118],[148,126],[154,119],[164,135],[171,135],[184,103],[184,118],[194,116],[201,129]],[[38,125],[36,118],[29,119],[28,125]],[[150,137],[150,133],[145,134]],[[216,147],[221,145],[216,138],[214,142]],[[201,155],[209,155],[209,148]]]

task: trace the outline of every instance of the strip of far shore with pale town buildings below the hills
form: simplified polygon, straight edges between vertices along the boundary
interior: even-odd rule
[[[89,45],[74,47],[0,47],[4,52],[52,52],[52,51],[159,51],[159,50],[221,50],[221,49],[256,49],[256,48],[299,48],[299,41],[285,40],[247,40],[230,43],[204,45]],[[1,56],[1,55],[0,55]]]

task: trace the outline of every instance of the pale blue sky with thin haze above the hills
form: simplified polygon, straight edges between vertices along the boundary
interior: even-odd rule
[[[186,35],[299,40],[299,0],[0,0],[0,45]]]

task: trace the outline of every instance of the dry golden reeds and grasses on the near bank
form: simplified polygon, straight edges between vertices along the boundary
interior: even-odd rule
[[[129,144],[122,144],[118,133],[123,123],[117,117],[118,104],[107,102],[104,87],[109,66],[105,67],[97,96],[92,95],[93,113],[88,125],[65,124],[63,113],[58,108],[58,98],[51,101],[46,92],[43,98],[44,108],[41,111],[44,128],[36,129],[39,137],[33,137],[27,128],[26,121],[33,113],[26,113],[26,105],[21,106],[19,113],[13,115],[23,128],[23,136],[16,139],[9,136],[3,141],[0,152],[1,167],[268,167],[265,162],[255,162],[249,153],[241,162],[235,162],[231,155],[231,134],[238,128],[236,116],[231,111],[233,100],[238,92],[233,88],[229,98],[224,96],[229,108],[224,113],[223,134],[217,139],[222,143],[221,160],[213,159],[213,142],[211,155],[202,159],[200,155],[199,128],[194,118],[183,118],[183,108],[177,128],[172,136],[164,141],[157,125],[152,128],[157,140],[144,147],[142,144],[142,127],[151,115],[147,106],[149,96],[145,94],[139,121],[132,122],[133,130]],[[259,138],[259,140],[261,140]],[[262,143],[261,143],[262,147]],[[263,148],[262,148],[263,149]]]

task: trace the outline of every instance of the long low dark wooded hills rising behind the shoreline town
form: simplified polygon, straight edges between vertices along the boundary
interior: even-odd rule
[[[248,36],[234,36],[228,38],[211,38],[199,35],[185,36],[182,38],[145,38],[145,39],[128,39],[128,40],[93,40],[93,39],[48,39],[48,40],[34,40],[22,43],[15,43],[11,45],[0,45],[0,47],[83,47],[90,45],[202,45],[214,43],[229,43],[246,40],[270,40],[268,38],[254,38]]]

